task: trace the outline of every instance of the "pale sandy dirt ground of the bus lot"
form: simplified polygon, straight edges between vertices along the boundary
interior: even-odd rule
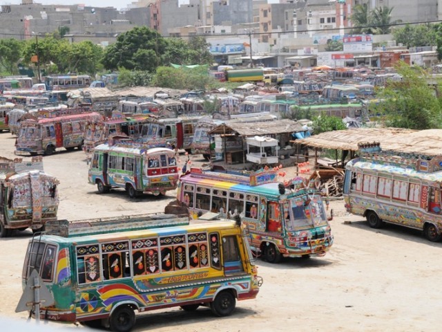
[[[0,156],[14,158],[14,142],[10,133],[0,133]],[[182,162],[184,159],[182,156]],[[200,156],[191,160],[195,165],[203,162]],[[175,198],[175,192],[135,200],[124,190],[97,194],[97,188],[88,184],[83,151],[62,149],[45,156],[44,167],[60,181],[60,219],[162,212]],[[284,170],[293,174],[293,169]],[[441,331],[438,264],[442,244],[426,241],[419,231],[394,225],[373,230],[363,218],[348,215],[342,200],[332,201],[330,208],[335,212],[331,222],[334,246],[327,255],[283,259],[277,265],[258,259],[258,272],[264,279],[260,293],[256,299],[237,302],[230,317],[214,317],[208,308],[194,313],[177,308],[151,311],[138,316],[133,331]],[[0,239],[0,321],[27,318],[27,313],[15,313],[15,308],[31,235],[26,230]],[[34,321],[30,331],[32,326]],[[47,326],[84,329],[73,324]]]

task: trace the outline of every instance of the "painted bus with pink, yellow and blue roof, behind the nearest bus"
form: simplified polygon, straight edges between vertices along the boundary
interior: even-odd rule
[[[180,177],[177,201],[193,218],[208,211],[239,215],[249,230],[251,248],[270,263],[282,257],[325,255],[333,235],[320,193],[302,178],[286,185],[273,170],[246,174],[192,168]]]

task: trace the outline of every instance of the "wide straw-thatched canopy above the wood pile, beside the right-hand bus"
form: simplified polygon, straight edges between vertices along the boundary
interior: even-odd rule
[[[394,145],[394,142],[403,142],[408,135],[419,132],[420,131],[411,129],[398,128],[355,128],[327,131],[303,138],[302,140],[294,140],[294,142],[307,145],[308,147],[357,151],[359,142],[376,141],[381,142],[382,149],[391,149],[392,146],[398,147],[398,145]],[[430,145],[427,145],[427,147],[430,147]],[[442,149],[440,151],[442,152]]]

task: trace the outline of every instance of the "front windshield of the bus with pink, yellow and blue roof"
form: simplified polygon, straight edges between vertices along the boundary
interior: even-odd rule
[[[290,219],[286,220],[287,230],[299,230],[327,225],[324,205],[319,195],[305,195],[289,200]]]

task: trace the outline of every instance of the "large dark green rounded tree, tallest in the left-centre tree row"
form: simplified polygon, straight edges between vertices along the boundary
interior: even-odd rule
[[[109,70],[124,67],[154,71],[161,64],[160,55],[165,48],[166,42],[157,31],[146,26],[136,27],[119,35],[117,42],[106,48],[102,64]]]

